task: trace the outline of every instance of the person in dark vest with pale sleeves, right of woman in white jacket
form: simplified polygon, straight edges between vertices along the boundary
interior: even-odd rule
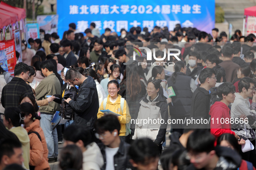
[[[197,88],[194,79],[186,76],[187,67],[183,61],[177,61],[174,66],[175,72],[167,80],[167,86],[173,88],[175,96],[172,96],[172,104],[170,104],[170,114],[173,119],[183,119],[190,116],[190,109],[192,103],[192,95]],[[183,132],[181,124],[172,124],[172,130]]]

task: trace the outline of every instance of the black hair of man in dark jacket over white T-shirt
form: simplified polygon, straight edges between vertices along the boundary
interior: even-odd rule
[[[117,129],[119,135],[121,125],[117,116],[109,114],[96,120],[94,127],[97,133],[104,133],[106,131],[113,132],[113,130]]]

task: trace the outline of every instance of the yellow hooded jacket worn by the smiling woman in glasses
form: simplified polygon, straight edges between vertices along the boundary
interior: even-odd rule
[[[118,116],[118,120],[119,120],[119,123],[121,125],[121,129],[120,129],[120,136],[125,136],[125,133],[126,133],[126,123],[129,123],[130,120],[131,120],[131,115],[130,115],[130,112],[129,112],[129,107],[128,107],[128,104],[126,101],[124,101],[124,104],[123,104],[123,113],[122,113],[122,110],[121,110],[121,105],[120,105],[120,102],[121,102],[121,98],[122,96],[120,94],[118,94],[118,98],[117,98],[117,101],[115,103],[112,103],[110,101],[110,95],[108,94],[107,96],[107,104],[106,104],[106,108],[104,109],[104,102],[102,102],[100,104],[100,108],[99,108],[99,111],[97,113],[97,117],[98,119],[102,116],[104,116],[104,113],[102,113],[100,110],[110,110],[114,113],[117,113],[117,114],[120,114],[122,116]]]

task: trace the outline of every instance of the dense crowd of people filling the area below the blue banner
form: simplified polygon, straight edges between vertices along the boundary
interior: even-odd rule
[[[0,68],[0,170],[255,170],[255,35],[68,27]]]

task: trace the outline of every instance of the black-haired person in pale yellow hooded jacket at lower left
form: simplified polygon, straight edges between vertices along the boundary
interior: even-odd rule
[[[19,142],[22,144],[24,166],[29,170],[29,159],[30,159],[30,144],[29,144],[29,135],[27,131],[21,126],[24,120],[24,115],[17,107],[8,107],[2,115],[3,125],[13,132],[19,139]]]

